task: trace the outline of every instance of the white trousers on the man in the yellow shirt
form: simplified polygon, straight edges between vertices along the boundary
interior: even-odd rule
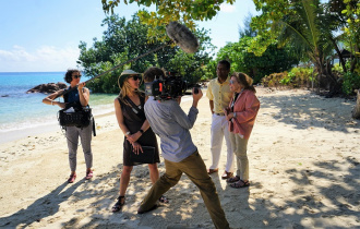
[[[216,169],[219,166],[220,155],[221,155],[221,146],[223,140],[225,137],[226,147],[227,147],[227,156],[226,156],[226,166],[225,170],[227,172],[233,172],[233,152],[231,149],[231,141],[230,133],[228,129],[228,121],[225,116],[216,116],[213,114],[212,118],[212,166],[209,169]]]

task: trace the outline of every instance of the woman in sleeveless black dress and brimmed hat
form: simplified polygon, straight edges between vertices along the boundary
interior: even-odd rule
[[[123,168],[120,177],[120,195],[112,206],[112,212],[119,212],[125,203],[125,192],[130,182],[133,166],[131,154],[143,154],[142,146],[154,146],[154,164],[148,164],[149,177],[153,184],[159,179],[157,162],[159,152],[155,133],[149,128],[144,112],[145,94],[139,91],[142,75],[132,70],[125,70],[119,77],[120,95],[115,99],[115,110],[123,140]],[[167,202],[163,196],[161,202]]]

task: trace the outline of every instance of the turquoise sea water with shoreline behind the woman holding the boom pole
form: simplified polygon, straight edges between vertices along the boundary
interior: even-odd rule
[[[63,75],[64,72],[0,72],[0,133],[57,123],[60,108],[43,104],[46,94],[26,92],[39,84],[64,82]],[[93,113],[113,111],[116,96],[91,94]]]

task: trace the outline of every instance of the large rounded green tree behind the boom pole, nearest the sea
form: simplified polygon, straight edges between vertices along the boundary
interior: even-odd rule
[[[118,76],[124,69],[144,72],[148,67],[156,65],[179,72],[189,83],[196,83],[206,75],[207,69],[204,67],[212,59],[207,51],[213,50],[214,46],[205,29],[195,32],[201,47],[194,55],[188,55],[178,47],[165,46],[156,52],[121,65],[164,44],[157,40],[148,41],[146,33],[149,26],[141,24],[137,16],[127,22],[115,14],[103,21],[103,26],[105,25],[107,29],[103,40],[94,39],[91,48],[87,48],[85,43],[79,46],[81,53],[77,63],[83,67],[85,75],[93,77],[120,65],[87,84],[94,93],[119,93]]]

